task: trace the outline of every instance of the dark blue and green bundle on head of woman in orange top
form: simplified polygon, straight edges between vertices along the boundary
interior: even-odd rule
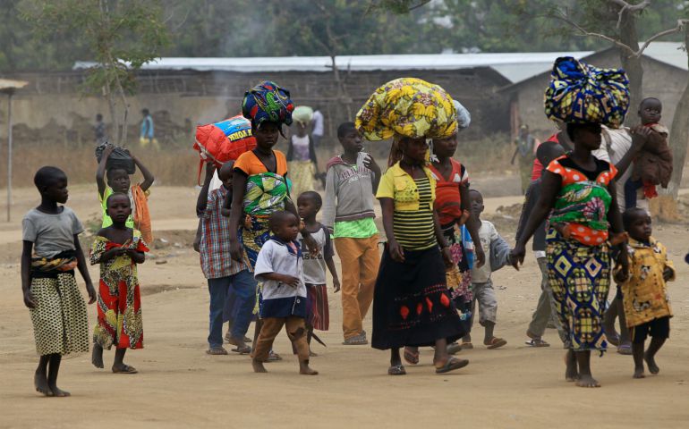
[[[256,127],[263,122],[290,125],[293,110],[289,91],[270,80],[248,90],[242,100],[242,115]]]

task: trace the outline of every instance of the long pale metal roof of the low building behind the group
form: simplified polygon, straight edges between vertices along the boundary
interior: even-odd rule
[[[577,58],[592,52],[538,52],[506,54],[439,54],[439,55],[340,55],[336,56],[341,70],[460,70],[490,67],[507,80],[526,80],[548,70],[558,56]],[[91,62],[77,62],[74,69],[93,66]],[[243,58],[159,58],[144,64],[144,70],[196,71],[330,71],[328,56],[276,56]]]

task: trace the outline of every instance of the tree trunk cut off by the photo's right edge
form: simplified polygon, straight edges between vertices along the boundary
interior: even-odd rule
[[[689,46],[689,26],[685,27],[685,46]],[[687,57],[687,63],[689,63],[689,57]],[[669,143],[672,151],[672,180],[667,193],[676,200],[682,181],[682,171],[685,168],[686,147],[689,144],[689,82],[687,82],[685,92],[682,93],[676,106],[675,117],[670,128]]]

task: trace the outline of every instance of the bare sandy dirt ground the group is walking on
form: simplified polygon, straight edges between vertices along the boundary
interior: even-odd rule
[[[504,186],[504,181],[497,182],[496,187]],[[68,205],[84,223],[98,216],[95,193],[91,186],[71,187]],[[502,197],[503,192],[484,194],[501,196],[486,199],[487,212],[521,200]],[[140,374],[97,370],[86,355],[65,359],[60,382],[72,398],[47,399],[33,391],[37,357],[19,273],[21,215],[37,204],[38,196],[34,189],[16,193],[13,222],[0,223],[0,427],[626,428],[682,427],[689,418],[686,225],[657,225],[654,231],[668,247],[678,274],[670,286],[672,338],[659,353],[658,376],[633,380],[632,358],[612,348],[604,357],[592,357],[603,387],[580,389],[564,381],[564,351],[557,347],[556,332],[546,334],[553,347],[526,347],[524,331],[540,293],[540,273],[532,256],[518,273],[504,268],[494,274],[500,305],[496,333],[508,344],[487,350],[476,341],[476,349],[461,353],[471,364],[455,374],[433,374],[432,351],[423,349],[420,366],[407,366],[404,377],[390,377],[387,353],[340,345],[341,306],[339,295],[332,294],[331,331],[319,334],[328,347],[314,346],[319,357],[311,362],[319,376],[297,374],[285,335],[276,340],[276,351],[285,360],[269,364],[269,374],[253,374],[249,357],[205,354],[208,292],[198,255],[191,250],[196,195],[192,188],[153,189],[154,228],[157,239],[166,242],[157,240],[140,267],[146,349],[127,354],[127,362]],[[4,201],[3,194],[0,198]],[[4,214],[4,207],[1,210]],[[512,242],[514,221],[497,224]],[[91,276],[98,279],[98,267],[91,267]],[[96,307],[90,306],[90,326],[95,314]],[[370,332],[370,315],[365,324]],[[480,326],[474,335],[475,340],[482,337]],[[112,357],[106,353],[106,362]]]

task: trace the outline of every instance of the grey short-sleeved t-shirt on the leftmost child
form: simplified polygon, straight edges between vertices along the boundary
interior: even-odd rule
[[[65,250],[75,250],[74,235],[84,227],[71,208],[63,206],[62,213],[47,214],[32,208],[21,221],[21,240],[31,241],[38,257],[55,257]]]

